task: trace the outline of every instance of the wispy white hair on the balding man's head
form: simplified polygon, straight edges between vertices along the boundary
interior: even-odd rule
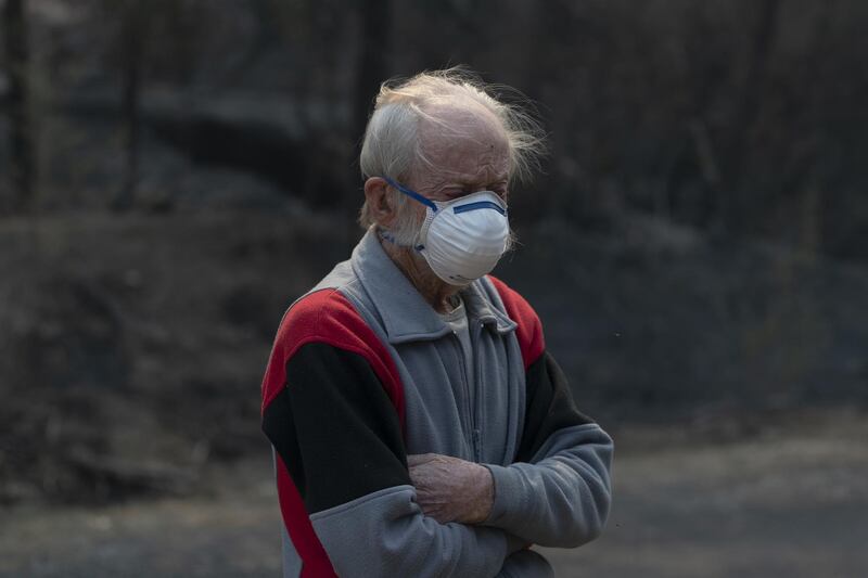
[[[361,145],[359,166],[362,177],[390,177],[406,182],[419,165],[431,166],[419,138],[420,120],[443,126],[431,111],[448,104],[492,113],[507,139],[510,181],[527,180],[539,167],[539,158],[545,153],[542,131],[520,106],[498,100],[501,94],[526,101],[514,89],[485,85],[463,68],[424,72],[408,80],[383,82]],[[411,244],[410,233],[418,229],[419,223],[414,222],[412,211],[405,210],[407,197],[397,191],[392,191],[392,195],[398,219],[390,228],[391,232],[396,241]],[[373,222],[366,202],[359,213],[359,223],[367,228]]]

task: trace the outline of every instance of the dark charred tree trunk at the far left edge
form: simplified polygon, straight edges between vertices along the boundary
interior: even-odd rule
[[[9,74],[10,177],[15,195],[10,205],[13,210],[26,210],[34,201],[36,158],[29,111],[29,52],[25,0],[7,0],[2,20],[5,69]]]

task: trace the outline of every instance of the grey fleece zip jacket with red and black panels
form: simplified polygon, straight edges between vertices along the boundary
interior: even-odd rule
[[[373,231],[288,310],[263,380],[284,576],[550,576],[524,543],[572,548],[602,531],[612,440],[575,408],[538,317],[493,277],[461,297],[472,380],[458,337]],[[488,467],[488,519],[425,516],[413,453]]]

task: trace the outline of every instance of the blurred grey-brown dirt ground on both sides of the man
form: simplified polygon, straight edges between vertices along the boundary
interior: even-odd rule
[[[866,439],[840,411],[723,444],[624,431],[605,535],[541,550],[564,577],[865,576]],[[264,450],[209,471],[209,496],[3,511],[0,576],[278,576],[270,467]]]

